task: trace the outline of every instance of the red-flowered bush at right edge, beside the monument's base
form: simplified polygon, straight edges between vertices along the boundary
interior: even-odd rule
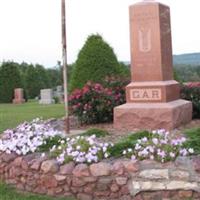
[[[188,84],[181,88],[181,98],[189,100],[193,105],[193,118],[200,118],[200,85]]]

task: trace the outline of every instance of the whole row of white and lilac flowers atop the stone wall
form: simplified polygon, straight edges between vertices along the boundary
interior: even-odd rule
[[[95,129],[92,130],[92,132],[94,131]],[[195,133],[198,134],[199,129],[195,130]],[[0,139],[0,152],[8,154],[14,152],[17,155],[38,151],[50,152],[50,156],[56,158],[60,164],[68,161],[93,163],[122,154],[134,160],[152,159],[167,162],[175,160],[177,156],[193,154],[192,145],[194,145],[195,151],[199,150],[198,142],[194,142],[194,140],[199,141],[199,138],[189,138],[188,141],[185,137],[173,138],[165,130],[157,130],[152,133],[143,131],[131,134],[113,145],[109,142],[99,142],[95,135],[65,137],[62,132],[58,132],[42,120],[36,119],[30,123],[20,124],[14,130],[5,131]]]

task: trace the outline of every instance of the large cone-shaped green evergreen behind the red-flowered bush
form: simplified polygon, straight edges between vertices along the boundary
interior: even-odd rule
[[[78,54],[72,71],[70,91],[82,88],[89,80],[102,83],[106,76],[121,75],[113,49],[100,35],[90,35]]]

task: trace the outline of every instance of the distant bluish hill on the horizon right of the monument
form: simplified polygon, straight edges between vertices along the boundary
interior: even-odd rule
[[[188,53],[173,56],[174,65],[200,65],[200,53]]]

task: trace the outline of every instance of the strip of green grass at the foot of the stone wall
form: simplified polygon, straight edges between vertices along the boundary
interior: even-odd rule
[[[13,188],[0,183],[0,200],[75,200],[74,198],[51,198],[16,192]]]

